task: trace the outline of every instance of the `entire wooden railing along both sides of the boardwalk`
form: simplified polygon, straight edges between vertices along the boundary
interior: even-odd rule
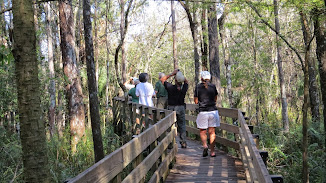
[[[197,107],[195,104],[186,105],[188,135],[199,136],[199,130],[194,127]],[[219,129],[226,133],[217,134],[216,141],[219,145],[238,152],[247,182],[283,182],[282,177],[269,175],[243,113],[238,109],[227,108],[218,108],[218,111],[223,118]],[[125,102],[123,98],[114,98],[113,116],[116,132],[120,133],[126,144],[69,182],[164,181],[178,149],[175,143],[176,113]],[[140,124],[142,133],[139,135],[133,135],[136,118],[139,118],[141,123],[144,122]],[[226,123],[226,118],[232,119],[229,121],[237,120],[238,125]],[[227,134],[233,134],[232,138]]]

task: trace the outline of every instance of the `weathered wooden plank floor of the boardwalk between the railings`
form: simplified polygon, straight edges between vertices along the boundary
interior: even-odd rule
[[[176,164],[165,183],[245,183],[240,159],[218,151],[216,157],[202,157],[199,141],[188,141],[188,147],[179,147]]]

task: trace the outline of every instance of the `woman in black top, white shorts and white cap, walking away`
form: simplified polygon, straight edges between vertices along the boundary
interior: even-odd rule
[[[194,102],[199,104],[199,114],[197,115],[197,128],[200,129],[200,139],[204,151],[203,157],[208,156],[207,135],[210,138],[210,156],[215,157],[215,127],[220,126],[220,117],[216,107],[217,90],[214,84],[210,83],[211,74],[208,71],[200,73],[201,83],[195,88]]]

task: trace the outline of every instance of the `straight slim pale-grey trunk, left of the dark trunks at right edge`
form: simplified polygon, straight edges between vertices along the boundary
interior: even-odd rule
[[[280,32],[280,23],[278,19],[278,0],[274,0],[274,14],[275,14],[275,30]],[[284,72],[283,72],[283,63],[280,55],[281,46],[279,44],[279,37],[276,35],[276,50],[277,50],[277,65],[278,65],[278,77],[281,90],[281,103],[282,103],[282,122],[283,129],[285,132],[289,132],[289,117],[287,109],[287,100],[286,100],[286,90],[285,90],[285,81],[284,81]]]

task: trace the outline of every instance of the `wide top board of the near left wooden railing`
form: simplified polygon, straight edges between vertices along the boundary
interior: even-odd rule
[[[80,173],[69,182],[108,182],[176,121],[175,112]]]

